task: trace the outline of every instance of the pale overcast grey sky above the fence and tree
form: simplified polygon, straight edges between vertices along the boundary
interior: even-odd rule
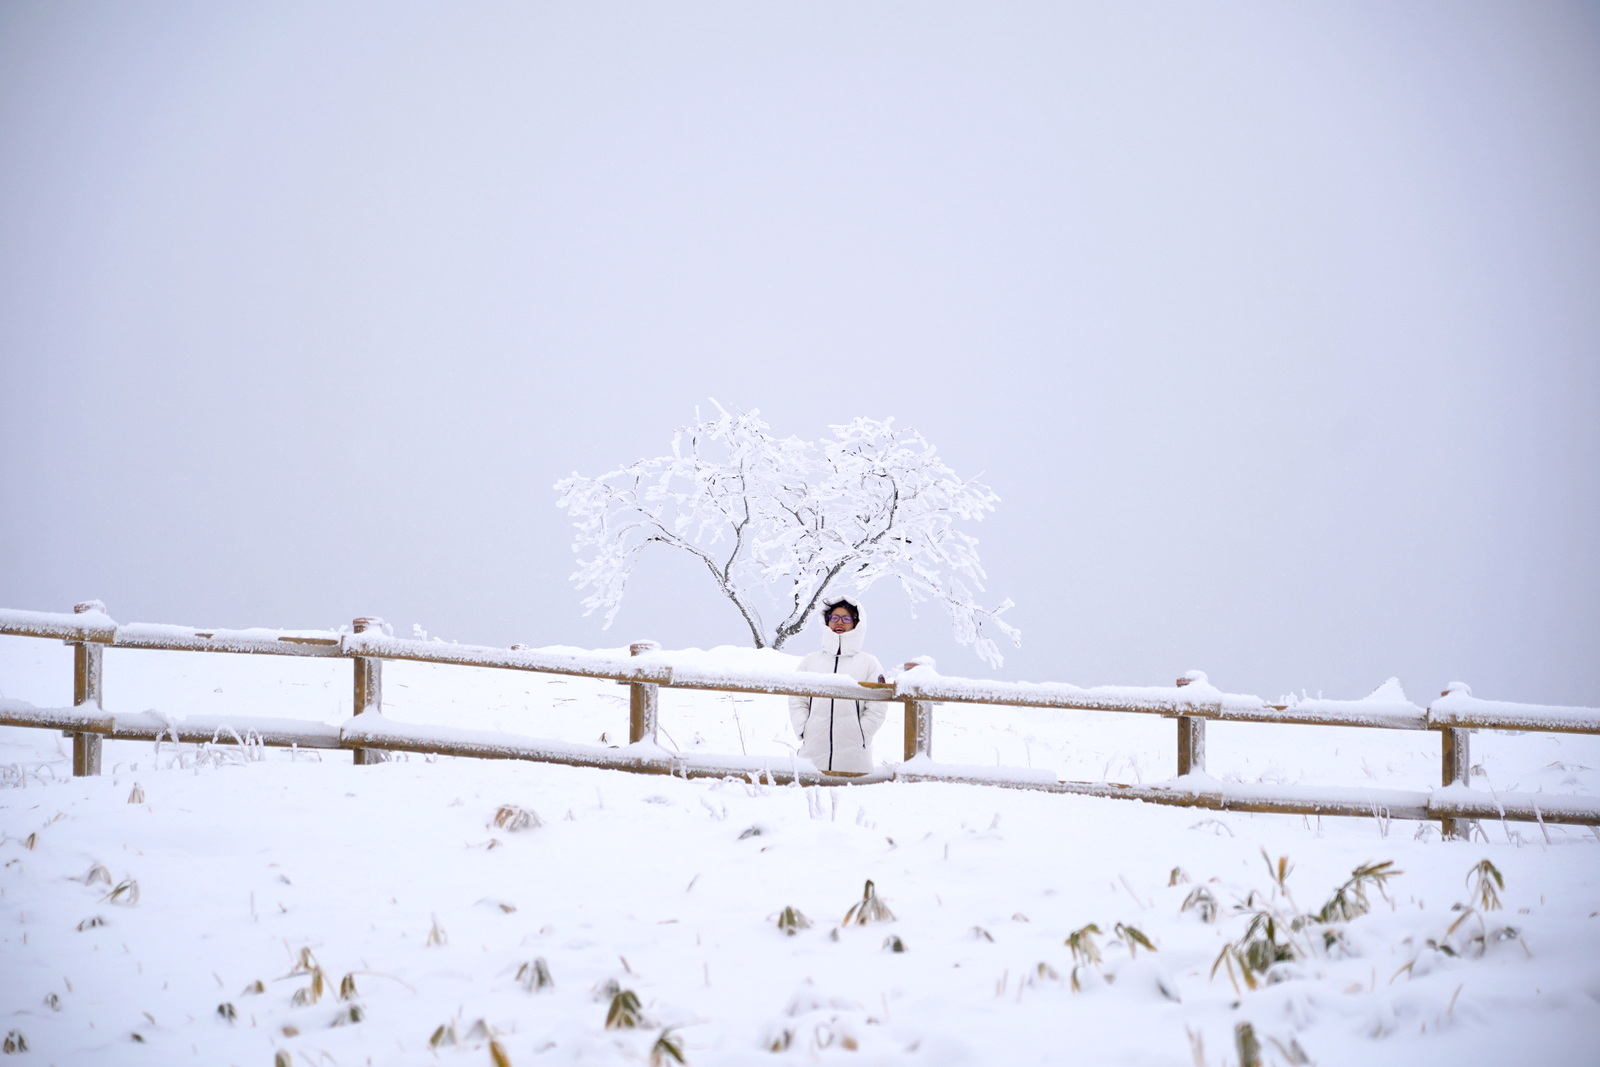
[[[984,472],[1002,677],[1600,704],[1600,8],[0,6],[0,605],[739,643],[550,490],[709,397]]]

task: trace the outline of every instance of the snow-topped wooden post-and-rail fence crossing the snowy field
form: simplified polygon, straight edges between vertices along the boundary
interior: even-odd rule
[[[706,670],[670,664],[651,641],[630,656],[578,656],[522,646],[443,645],[389,637],[382,621],[355,619],[354,632],[333,630],[203,630],[182,625],[117,624],[104,605],[77,605],[74,614],[0,609],[0,633],[59,638],[74,648],[74,707],[34,707],[0,699],[0,725],[61,729],[72,736],[72,773],[99,774],[101,741],[232,742],[302,749],[349,749],[357,763],[382,760],[382,752],[426,752],[474,758],[534,760],[680,777],[747,776],[773,784],[864,785],[883,781],[968,782],[1010,789],[1142,800],[1213,811],[1280,814],[1382,816],[1437,819],[1446,837],[1467,832],[1474,819],[1515,819],[1600,825],[1600,798],[1546,793],[1483,793],[1469,787],[1469,731],[1515,729],[1600,734],[1600,710],[1482,701],[1453,685],[1429,707],[1384,686],[1362,701],[1267,704],[1261,697],[1222,693],[1192,672],[1174,686],[1096,686],[1066,683],[946,678],[928,667],[901,675],[886,688],[867,688],[832,675],[758,670]],[[262,717],[168,717],[158,712],[109,713],[101,699],[106,648],[214,651],[269,656],[323,656],[354,662],[354,710],[341,726]],[[382,661],[534,670],[626,683],[629,744],[598,747],[541,741],[480,729],[419,726],[386,720]],[[906,761],[866,776],[834,776],[790,758],[787,765],[750,757],[683,755],[656,744],[658,693],[666,688],[774,696],[822,696],[898,701],[906,707]],[[1066,782],[1048,771],[966,768],[933,761],[933,705],[1005,704],[1160,715],[1178,723],[1178,777],[1163,784]],[[1205,774],[1205,723],[1293,723],[1434,729],[1440,734],[1442,787],[1434,792],[1280,787],[1219,782]]]

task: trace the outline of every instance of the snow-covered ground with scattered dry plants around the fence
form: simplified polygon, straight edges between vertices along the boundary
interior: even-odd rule
[[[70,651],[0,638],[0,696],[69,704]],[[626,739],[626,696],[384,672],[392,718],[589,744]],[[106,705],[336,723],[350,664],[109,649]],[[669,747],[789,752],[781,697],[664,691],[661,715]],[[1174,771],[1163,720],[965,707],[936,723],[952,763]],[[898,737],[891,712],[878,758]],[[1434,734],[1213,723],[1208,739],[1222,779],[1427,789],[1438,774]],[[19,1062],[674,1062],[666,1030],[691,1064],[1218,1067],[1238,1062],[1242,1022],[1283,1064],[1576,1064],[1600,1046],[1600,841],[1579,827],[1442,841],[1430,824],[976,785],[133,742],[106,744],[102,777],[72,779],[67,753],[48,731],[0,729],[0,1030],[26,1041]],[[1600,793],[1595,737],[1480,733],[1472,757],[1480,789]],[[539,824],[496,825],[507,805]],[[1499,909],[1480,897],[1482,861],[1504,877]],[[1291,928],[1374,862],[1400,873],[1366,889],[1368,913]],[[845,926],[867,880],[894,920]],[[1216,921],[1184,909],[1197,889]],[[1246,902],[1283,920],[1277,944],[1298,957],[1259,989],[1213,976]],[[786,907],[811,925],[786,936]],[[1066,944],[1090,923],[1098,961]],[[536,961],[554,985],[530,981]],[[643,1025],[606,1029],[616,990]]]

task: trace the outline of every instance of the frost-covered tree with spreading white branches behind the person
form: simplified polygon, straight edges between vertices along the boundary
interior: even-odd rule
[[[714,402],[715,403],[715,402]],[[915,430],[893,419],[856,419],[832,437],[774,437],[758,411],[722,405],[672,437],[672,454],[640,459],[597,478],[555,483],[574,520],[573,581],[586,614],[610,627],[634,565],[650,545],[698,558],[733,601],[757,648],[782,648],[824,595],[899,582],[912,611],[938,601],[955,638],[1000,665],[994,635],[1021,643],[1016,627],[978,603],[984,569],[978,539],[957,520],[981,520],[998,499],[962,480]],[[762,608],[776,605],[778,621]]]

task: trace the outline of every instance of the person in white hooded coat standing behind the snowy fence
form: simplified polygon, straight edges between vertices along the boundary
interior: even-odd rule
[[[883,681],[877,656],[862,651],[861,601],[835,598],[822,605],[822,648],[800,661],[798,670],[837,673],[856,681]],[[840,701],[826,696],[789,697],[789,718],[800,736],[800,755],[826,774],[866,774],[872,769],[872,736],[888,705],[883,701]]]

